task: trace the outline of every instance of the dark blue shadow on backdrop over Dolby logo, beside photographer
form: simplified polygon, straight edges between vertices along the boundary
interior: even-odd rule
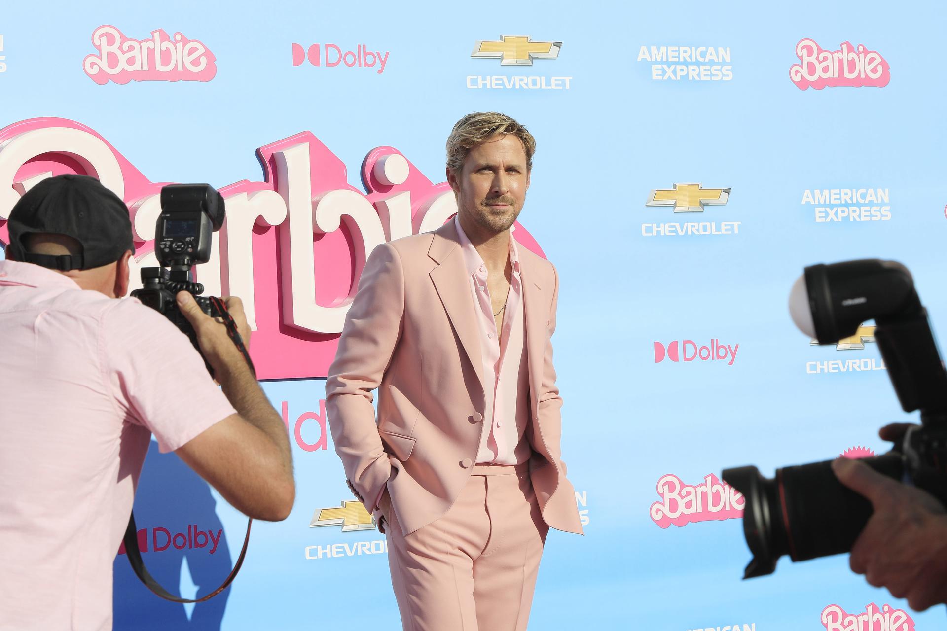
[[[215,506],[207,482],[173,453],[160,453],[152,441],[134,498],[138,548],[145,567],[174,595],[203,596],[216,589],[232,567]],[[119,552],[113,591],[116,631],[221,628],[229,587],[205,603],[170,603],[142,585],[124,548]]]

